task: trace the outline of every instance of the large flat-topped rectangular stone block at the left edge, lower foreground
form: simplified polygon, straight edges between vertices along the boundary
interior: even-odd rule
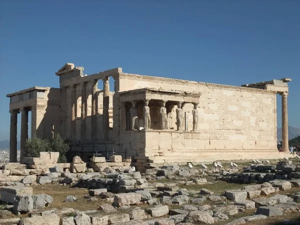
[[[5,186],[0,188],[0,200],[13,203],[13,198],[19,194],[32,194],[32,187]]]

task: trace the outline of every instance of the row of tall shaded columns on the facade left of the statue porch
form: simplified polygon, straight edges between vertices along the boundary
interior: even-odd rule
[[[98,101],[97,101],[97,83],[98,80],[91,80],[88,82],[82,82],[80,84],[74,84],[62,87],[62,136],[75,140],[88,140],[97,139],[97,113],[98,113]],[[81,91],[79,91],[79,85]],[[65,96],[65,98],[64,98]],[[76,117],[78,110],[78,97],[81,96],[81,120],[80,120],[80,138],[76,137]],[[103,138],[108,138],[109,129],[109,79],[103,78],[103,115],[102,115],[102,127]],[[90,116],[90,123],[87,124],[87,118]]]

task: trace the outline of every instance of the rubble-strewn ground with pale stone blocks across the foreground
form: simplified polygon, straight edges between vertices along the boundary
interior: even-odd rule
[[[299,179],[265,182],[253,176],[251,183],[234,183],[220,178],[271,166],[237,164],[230,168],[223,162],[221,171],[208,165],[205,174],[200,166],[187,165],[147,169],[144,174],[111,167],[77,174],[51,169],[31,182],[33,194],[18,195],[13,204],[2,202],[0,224],[300,224]],[[277,164],[280,170],[272,167],[270,172],[300,171],[292,162],[280,165],[283,170]],[[21,182],[1,184],[29,186],[32,175],[26,176]]]

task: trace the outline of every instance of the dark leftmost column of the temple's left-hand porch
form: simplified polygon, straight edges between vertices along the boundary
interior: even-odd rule
[[[9,162],[16,162],[16,124],[17,110],[9,110],[10,112],[10,137],[9,137]]]

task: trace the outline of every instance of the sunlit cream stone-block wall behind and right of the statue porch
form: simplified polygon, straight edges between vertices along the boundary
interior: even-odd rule
[[[182,160],[182,157],[180,158],[182,155],[190,159],[190,156],[197,157],[202,154],[203,150],[212,154],[216,150],[231,150],[238,155],[236,159],[242,159],[242,156],[246,156],[244,152],[247,150],[261,150],[258,153],[261,152],[262,155],[264,154],[262,152],[265,152],[266,156],[279,157],[276,148],[276,93],[273,91],[128,73],[119,73],[119,87],[120,90],[149,87],[202,93],[199,98],[197,132],[174,130],[146,132],[143,137],[144,151],[138,148],[137,155],[169,155],[169,158],[174,156]],[[192,104],[184,105],[183,111],[188,114],[188,130],[192,129],[191,110]],[[174,129],[175,111],[176,106],[168,116],[170,128]],[[128,136],[132,135],[131,144]],[[141,139],[135,137],[136,135],[140,134],[121,132],[120,142],[123,140],[125,142],[120,148],[131,146],[131,150],[137,149],[132,148],[136,139]],[[131,151],[129,154],[131,156]],[[222,159],[221,155],[215,157]],[[215,157],[211,159],[216,159]],[[248,153],[246,158],[248,157],[252,158],[252,153]],[[174,161],[177,159],[173,158]]]

